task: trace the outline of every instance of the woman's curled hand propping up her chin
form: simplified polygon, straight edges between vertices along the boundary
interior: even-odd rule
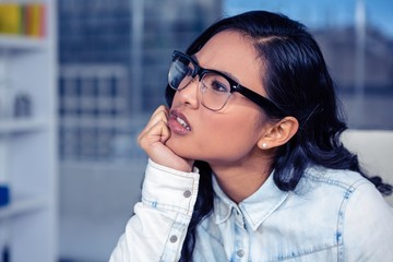
[[[138,143],[155,163],[180,171],[191,171],[193,160],[176,155],[165,145],[169,138],[168,108],[159,106],[138,136]]]

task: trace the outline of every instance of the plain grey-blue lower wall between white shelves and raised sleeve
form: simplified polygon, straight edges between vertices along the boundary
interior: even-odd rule
[[[106,262],[141,196],[145,160],[60,169],[60,258]]]

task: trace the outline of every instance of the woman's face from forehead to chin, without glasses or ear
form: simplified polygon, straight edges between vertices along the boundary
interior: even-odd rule
[[[224,31],[194,55],[202,68],[221,71],[265,96],[261,61],[251,40]],[[201,104],[199,79],[177,91],[169,114],[171,136],[166,145],[177,155],[213,164],[243,162],[254,155],[267,118],[260,107],[235,92],[219,111]]]

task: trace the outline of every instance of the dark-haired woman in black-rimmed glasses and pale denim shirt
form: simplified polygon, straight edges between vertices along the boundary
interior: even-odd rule
[[[392,187],[368,178],[306,28],[253,11],[175,51],[139,136],[142,201],[110,261],[393,261]],[[380,192],[379,192],[380,191]]]

